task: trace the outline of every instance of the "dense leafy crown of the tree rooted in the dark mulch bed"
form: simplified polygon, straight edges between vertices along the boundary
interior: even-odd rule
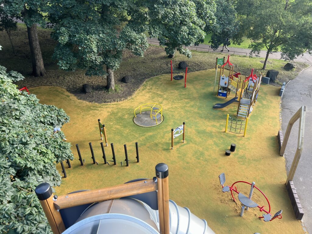
[[[122,51],[143,56],[148,47],[144,35],[147,16],[139,3],[94,0],[52,5],[50,19],[56,23],[52,37],[59,42],[54,58],[61,69],[81,68],[86,75],[103,76],[104,65],[119,68]]]

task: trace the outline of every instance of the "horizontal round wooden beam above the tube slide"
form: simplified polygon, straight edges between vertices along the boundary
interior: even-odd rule
[[[80,206],[93,202],[127,197],[131,195],[156,191],[158,184],[153,179],[141,180],[133,183],[120,184],[108,188],[93,189],[80,193],[62,195],[54,203],[57,210]]]

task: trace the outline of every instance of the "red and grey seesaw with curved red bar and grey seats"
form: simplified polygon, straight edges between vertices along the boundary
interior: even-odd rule
[[[232,184],[232,186],[224,186],[225,174],[224,173],[220,174],[219,179],[220,179],[220,184],[222,185],[222,192],[225,193],[225,192],[231,191],[231,195],[232,195],[234,202],[236,202],[236,201],[235,201],[235,198],[233,196],[233,191],[238,194],[238,200],[242,203],[241,214],[240,214],[241,216],[243,216],[245,208],[246,208],[246,210],[248,210],[249,208],[258,207],[260,209],[260,212],[264,211],[266,213],[266,214],[263,214],[263,216],[259,216],[259,218],[263,218],[263,221],[265,221],[265,222],[272,221],[275,218],[278,218],[278,219],[282,218],[282,215],[281,215],[282,210],[276,212],[275,215],[272,217],[272,214],[270,213],[271,212],[270,202],[269,202],[268,198],[266,197],[266,195],[259,188],[257,188],[255,186],[255,182],[249,183],[246,181],[236,181],[235,183]],[[236,186],[234,186],[237,183],[246,183],[246,184],[251,185],[249,197],[246,197],[244,194],[237,191]],[[265,197],[265,199],[268,203],[269,211],[266,211],[264,209],[265,206],[259,206],[256,202],[251,200],[254,188],[256,188]]]

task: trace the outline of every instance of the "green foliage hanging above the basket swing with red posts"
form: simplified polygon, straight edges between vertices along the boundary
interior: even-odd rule
[[[179,51],[192,56],[183,46],[198,45],[204,41],[205,29],[215,21],[214,0],[146,1],[149,35],[158,38],[168,55]]]

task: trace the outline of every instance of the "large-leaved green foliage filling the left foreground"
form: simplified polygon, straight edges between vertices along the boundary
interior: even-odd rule
[[[0,66],[0,232],[51,233],[34,189],[61,184],[56,163],[73,159],[71,145],[55,125],[69,121],[64,110],[21,94],[12,80],[22,75]]]

